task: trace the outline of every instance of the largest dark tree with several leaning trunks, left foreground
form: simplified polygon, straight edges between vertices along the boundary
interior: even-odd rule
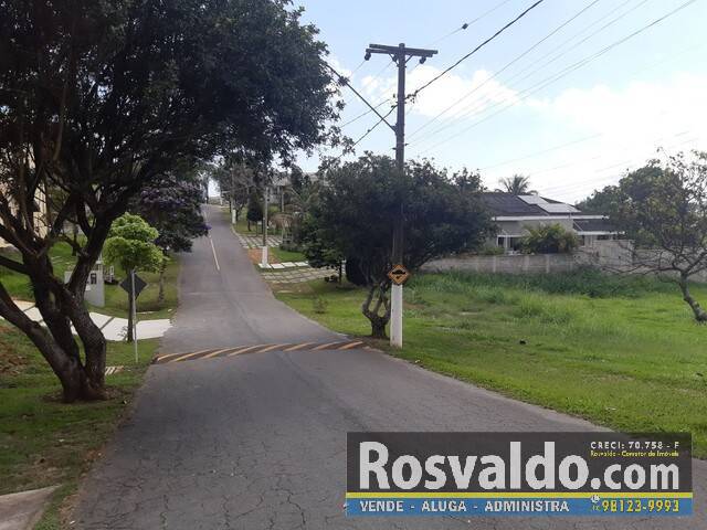
[[[0,237],[20,258],[0,264],[28,276],[45,327],[4,286],[0,315],[36,346],[66,401],[105,398],[106,342],[84,290],[113,221],[146,184],[186,158],[288,162],[336,142],[338,85],[300,14],[282,0],[2,2]],[[67,222],[85,237],[68,237]],[[59,241],[76,251],[66,285],[50,256]]]

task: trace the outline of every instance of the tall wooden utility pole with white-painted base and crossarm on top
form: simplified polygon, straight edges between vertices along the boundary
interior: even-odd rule
[[[404,266],[403,218],[405,213],[405,205],[403,201],[403,187],[405,171],[405,65],[412,57],[420,57],[420,63],[424,63],[428,57],[436,54],[437,51],[423,50],[420,47],[405,47],[404,43],[400,43],[397,46],[369,44],[366,49],[366,61],[368,61],[373,53],[390,55],[398,65],[398,115],[393,130],[395,132],[395,165],[398,167],[399,177],[398,200],[400,202],[400,211],[395,218],[395,222],[393,223],[392,265]],[[402,284],[392,284],[390,304],[390,344],[395,348],[402,348]]]

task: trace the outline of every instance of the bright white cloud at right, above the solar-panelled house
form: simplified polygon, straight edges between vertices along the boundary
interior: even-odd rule
[[[706,92],[707,76],[677,74],[659,82],[631,82],[622,88],[601,84],[568,88],[553,98],[528,99],[524,105],[547,124],[539,127],[570,131],[568,142],[597,138],[504,166],[488,178],[514,171],[530,173],[534,187],[541,192],[576,200],[618,182],[625,170],[654,158],[658,147],[668,152],[707,149]]]

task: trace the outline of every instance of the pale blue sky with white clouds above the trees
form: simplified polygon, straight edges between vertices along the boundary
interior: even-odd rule
[[[490,189],[521,173],[544,197],[576,202],[651,158],[707,150],[707,0],[683,7],[688,1],[542,1],[408,103],[405,158],[478,170]],[[535,0],[297,3],[304,21],[319,28],[329,64],[377,105],[394,96],[397,72],[387,55],[363,61],[369,43],[439,50],[423,65],[408,63],[410,94]],[[339,125],[358,117],[342,129],[357,140],[379,118],[359,117],[367,107],[348,88],[341,97]],[[394,156],[393,146],[392,130],[381,124],[356,156]],[[318,155],[302,153],[298,163],[315,171]]]

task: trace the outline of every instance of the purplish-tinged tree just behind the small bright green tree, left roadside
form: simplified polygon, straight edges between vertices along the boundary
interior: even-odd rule
[[[201,214],[203,190],[199,167],[184,165],[145,188],[131,210],[159,233],[155,244],[165,255],[159,269],[159,294],[165,301],[165,271],[175,252],[191,252],[192,240],[207,235]],[[115,224],[115,223],[114,223]]]

